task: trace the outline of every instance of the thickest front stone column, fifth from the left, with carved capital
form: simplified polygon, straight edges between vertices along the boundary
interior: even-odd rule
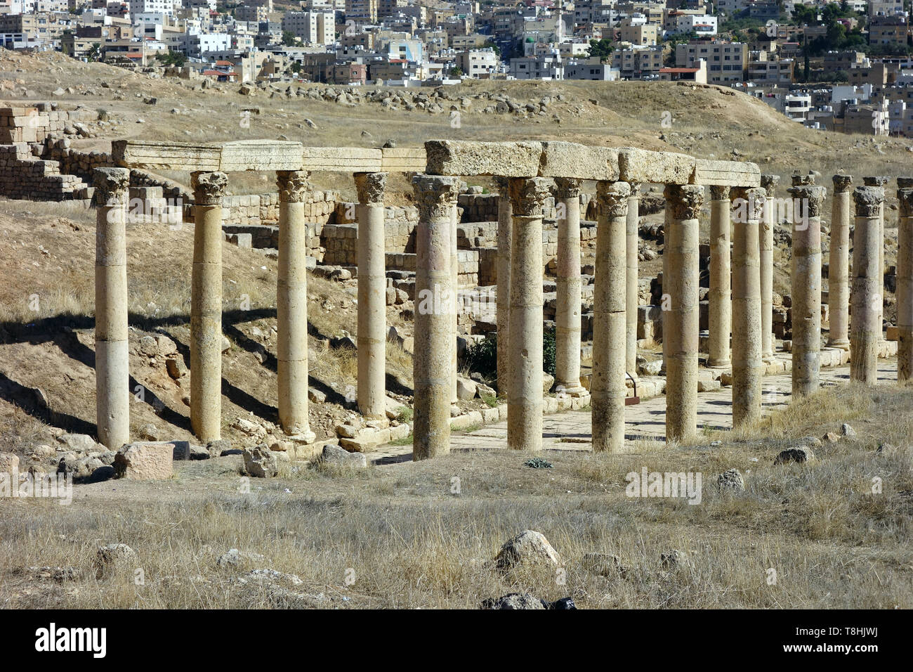
[[[415,229],[414,460],[450,452],[450,343],[455,310],[450,249],[457,177],[412,180],[419,219]]]

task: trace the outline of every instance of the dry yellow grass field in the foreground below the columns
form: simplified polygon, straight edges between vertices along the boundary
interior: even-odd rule
[[[550,600],[570,594],[582,607],[909,608],[913,390],[823,395],[839,409],[867,401],[870,412],[855,421],[857,439],[818,449],[811,464],[772,464],[781,445],[834,428],[835,411],[816,422],[797,404],[776,414],[775,426],[802,422],[777,438],[637,444],[620,455],[550,453],[547,470],[524,467],[527,455],[507,451],[364,471],[291,465],[278,479],[255,479],[252,494],[242,495],[237,458],[220,458],[182,464],[152,500],[124,493],[114,513],[100,489],[84,490],[66,508],[2,502],[0,604],[475,608],[487,597],[530,591]],[[878,452],[884,443],[897,448]],[[746,491],[720,494],[715,475],[733,466],[745,475]],[[702,473],[700,504],[625,496],[625,474],[643,467]],[[455,475],[458,495],[451,492]],[[876,476],[880,494],[872,492]],[[492,568],[500,544],[524,528],[546,535],[561,572]],[[37,581],[23,569],[88,569],[97,546],[114,541],[137,551],[144,585],[129,575]],[[230,548],[264,557],[218,568],[216,558]],[[691,564],[664,568],[660,555],[669,549],[687,552]],[[593,551],[617,555],[624,572],[587,571],[582,558]],[[236,581],[256,568],[303,583]]]

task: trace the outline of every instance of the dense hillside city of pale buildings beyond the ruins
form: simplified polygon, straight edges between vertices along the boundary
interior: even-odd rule
[[[0,0],[0,44],[220,82],[688,80],[913,137],[909,0]]]

